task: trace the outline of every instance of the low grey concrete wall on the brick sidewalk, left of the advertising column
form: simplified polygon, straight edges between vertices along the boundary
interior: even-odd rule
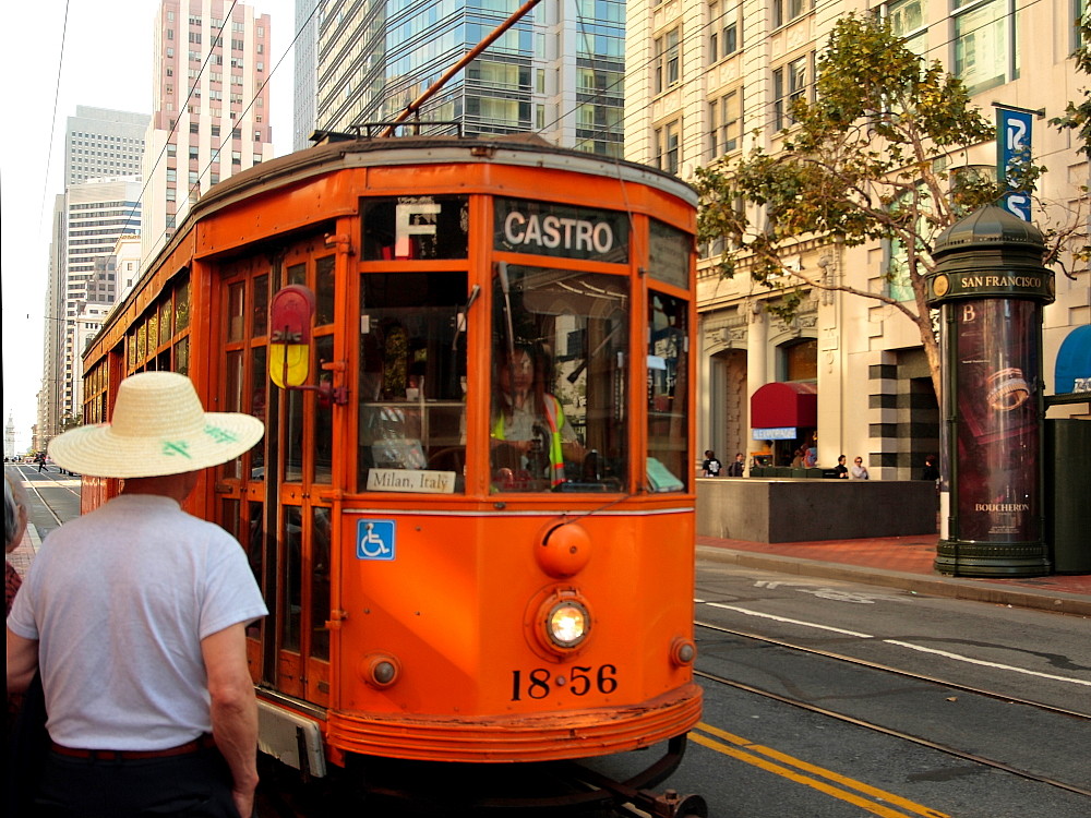
[[[925,480],[698,478],[697,534],[751,542],[931,534],[937,506]]]

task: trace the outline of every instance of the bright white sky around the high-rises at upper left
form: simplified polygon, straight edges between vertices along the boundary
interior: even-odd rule
[[[271,16],[276,65],[295,37],[293,0],[248,0]],[[64,192],[64,128],[77,105],[152,113],[157,0],[4,2],[0,49],[0,284],[3,426],[15,453],[31,445],[41,385],[41,342],[53,197]],[[67,11],[67,24],[65,24]],[[63,41],[63,57],[62,57]],[[291,151],[291,55],[271,79],[273,145]]]

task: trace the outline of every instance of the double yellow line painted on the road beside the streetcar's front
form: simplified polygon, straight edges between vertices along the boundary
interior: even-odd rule
[[[708,735],[705,735],[706,733]],[[742,736],[714,727],[711,724],[704,722],[698,724],[690,732],[690,741],[744,763],[781,775],[798,784],[810,786],[826,795],[854,804],[873,815],[883,816],[883,818],[906,818],[907,815],[923,816],[923,818],[950,818],[945,813],[930,809],[894,793],[868,786],[860,781],[839,775],[831,770],[801,761],[771,747],[754,744]]]

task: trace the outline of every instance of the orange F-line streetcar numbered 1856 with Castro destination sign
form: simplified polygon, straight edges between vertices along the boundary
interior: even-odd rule
[[[702,705],[695,206],[536,137],[340,134],[191,206],[85,354],[85,420],[169,369],[266,423],[190,503],[272,612],[264,753],[323,777],[668,742],[634,781],[676,766]]]

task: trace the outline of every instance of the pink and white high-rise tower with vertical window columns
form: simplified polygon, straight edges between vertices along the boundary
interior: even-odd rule
[[[144,260],[212,185],[273,157],[271,43],[269,16],[251,5],[163,0],[144,155]]]

